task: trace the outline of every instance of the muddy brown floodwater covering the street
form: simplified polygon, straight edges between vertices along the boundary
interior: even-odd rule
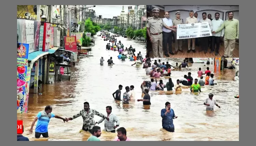
[[[146,55],[145,43],[139,43],[127,38],[117,37],[121,40],[124,48],[132,45],[136,49],[135,54],[141,51],[143,58]],[[146,76],[145,69],[131,66],[134,62],[120,61],[117,59],[118,53],[106,51],[105,46],[109,41],[103,41],[101,37],[95,40],[95,46],[91,52],[92,57],[82,58],[76,62],[72,68],[71,81],[56,82],[55,84],[43,85],[42,95],[30,94],[28,103],[28,113],[17,114],[17,120],[23,120],[24,136],[30,141],[34,139],[33,133],[29,134],[34,117],[39,111],[44,110],[46,105],[53,106],[53,113],[62,117],[72,117],[83,109],[83,103],[89,102],[90,108],[106,115],[105,107],[112,106],[112,113],[120,120],[119,127],[125,127],[127,136],[132,141],[238,141],[239,140],[239,99],[234,95],[239,95],[239,82],[234,81],[236,70],[226,69],[221,73],[214,73],[217,85],[202,87],[202,92],[191,94],[189,89],[182,89],[180,94],[175,91],[150,91],[151,106],[143,106],[142,102],[135,99],[142,99],[140,85],[143,80],[150,80]],[[100,66],[100,58],[104,57],[104,66]],[[106,62],[113,57],[115,65],[108,66]],[[165,59],[165,58],[163,58]],[[174,66],[176,62],[181,63],[184,58],[165,59]],[[155,59],[152,59],[155,60]],[[171,71],[171,78],[176,84],[177,79],[181,79],[185,74],[191,72],[191,76],[197,77],[198,68],[203,71],[207,67],[213,72],[213,65],[194,63],[189,68],[180,71]],[[204,75],[205,76],[205,75]],[[161,78],[163,83],[168,79]],[[199,78],[198,78],[199,79]],[[159,79],[158,79],[159,80]],[[122,93],[126,86],[133,85],[136,97],[127,106],[114,101],[112,94],[118,89],[118,85],[123,85]],[[203,102],[208,98],[208,94],[213,93],[214,99],[221,108],[215,107],[215,111],[205,111]],[[123,96],[121,96],[123,97]],[[170,133],[162,129],[160,111],[165,108],[165,103],[169,101],[175,115],[175,132]],[[95,115],[95,122],[101,117]],[[36,125],[36,124],[35,124]],[[86,141],[91,135],[88,132],[80,133],[82,129],[82,117],[64,123],[62,120],[52,118],[49,126],[48,141]],[[98,125],[98,124],[97,124]],[[100,125],[104,129],[104,122]],[[102,132],[101,141],[112,141],[117,133]],[[47,140],[40,138],[37,141]]]

